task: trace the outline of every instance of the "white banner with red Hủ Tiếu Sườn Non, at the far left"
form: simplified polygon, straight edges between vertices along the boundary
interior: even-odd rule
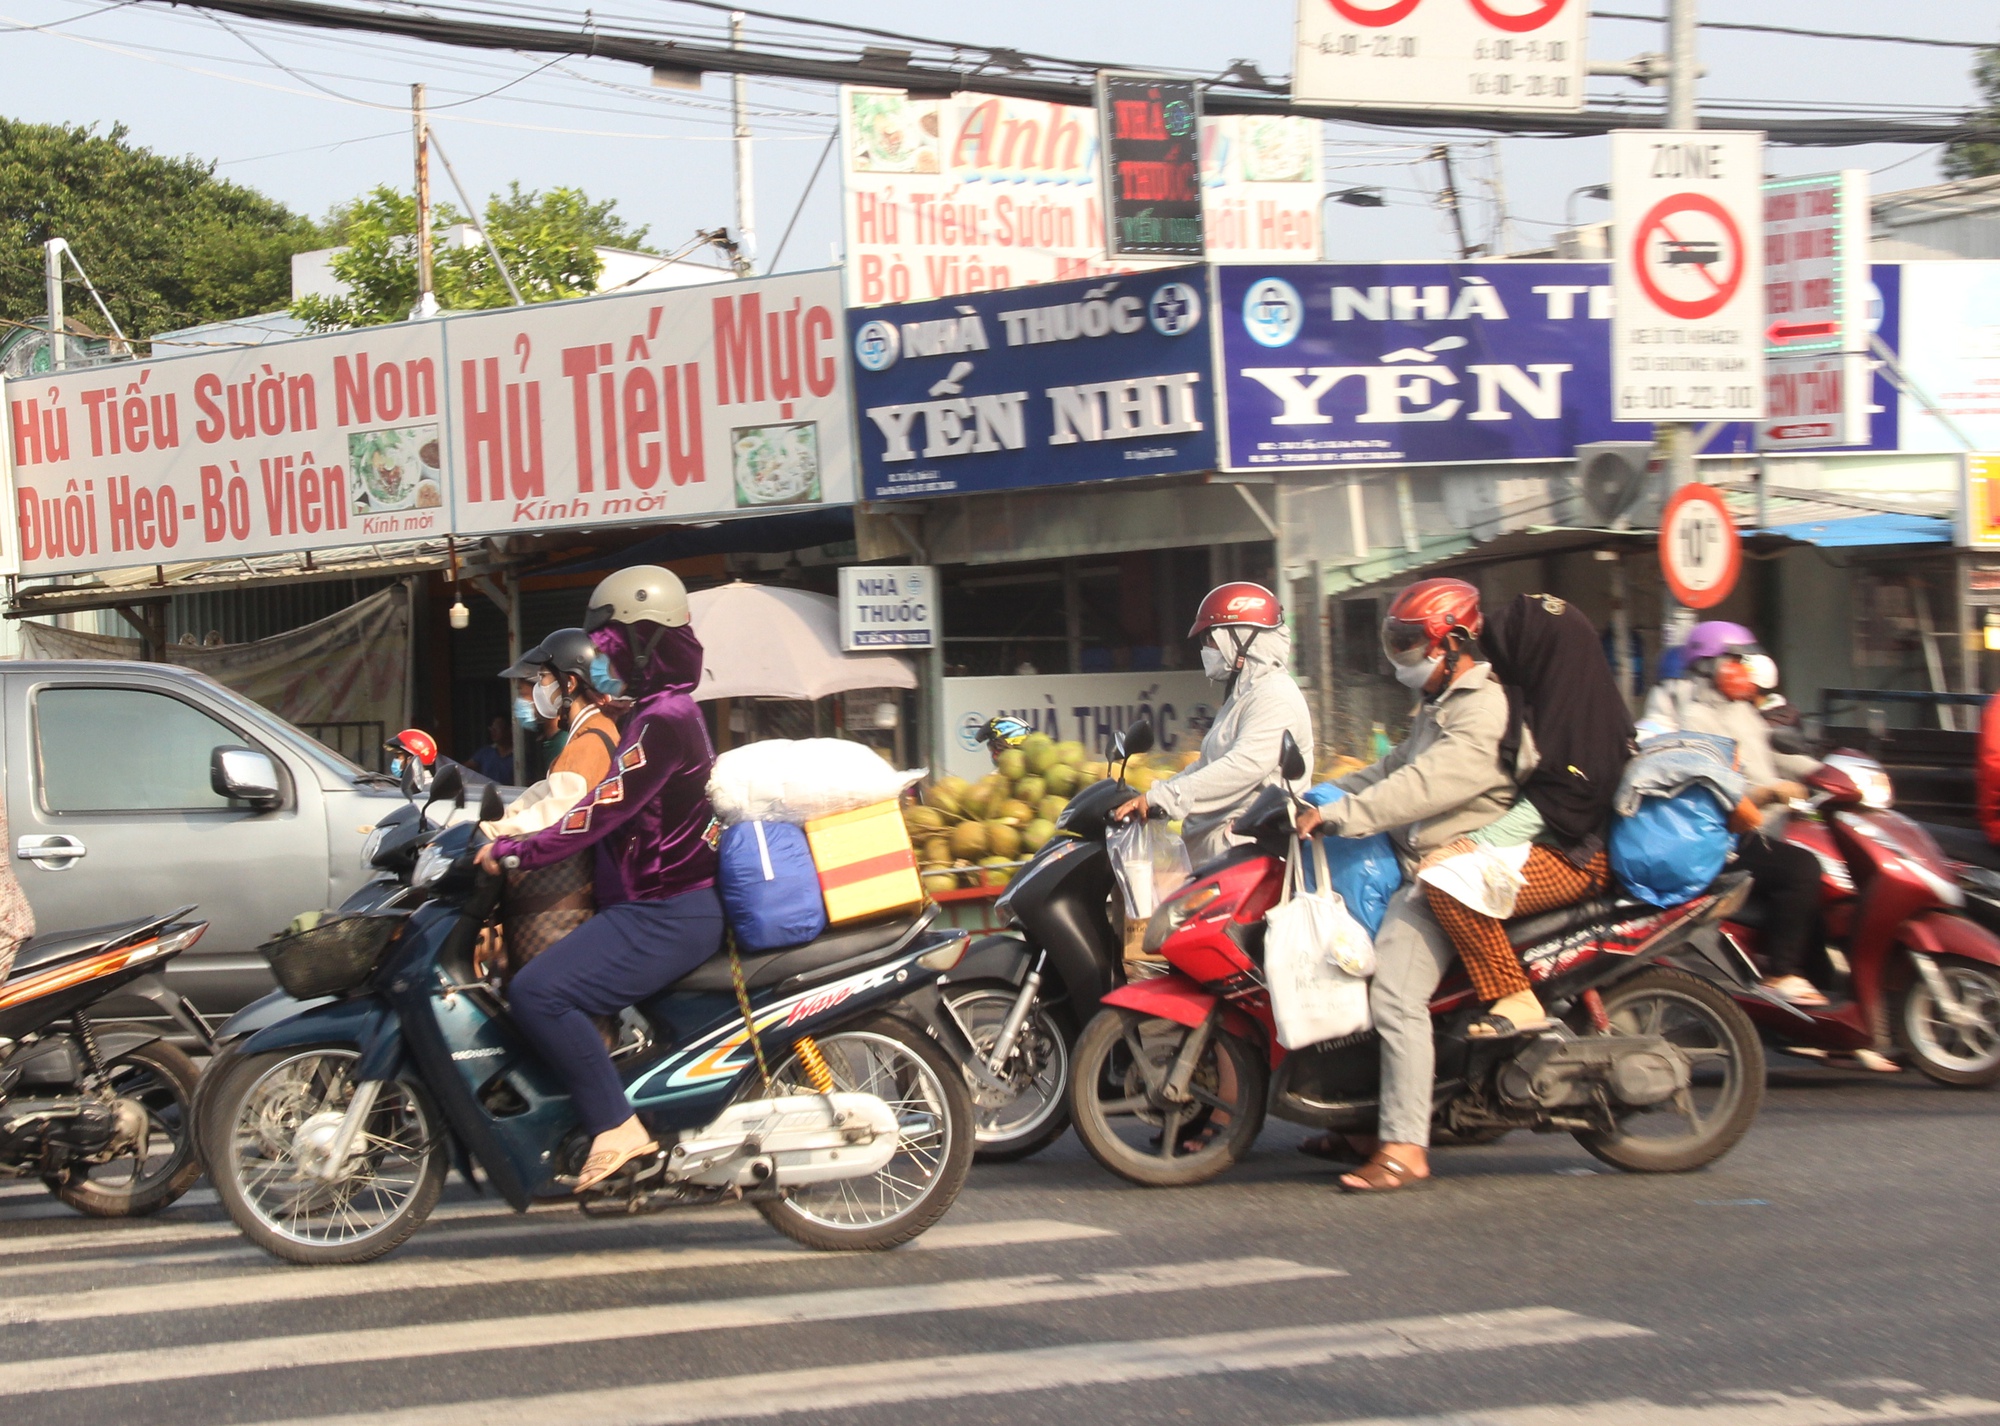
[[[444,534],[440,324],[6,384],[20,572]]]

